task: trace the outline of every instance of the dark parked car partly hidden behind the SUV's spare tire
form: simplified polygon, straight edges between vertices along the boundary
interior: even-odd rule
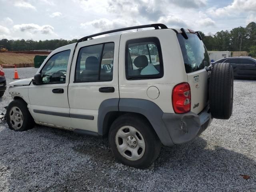
[[[234,78],[256,78],[256,59],[250,57],[228,57],[216,63],[230,63],[234,70]]]

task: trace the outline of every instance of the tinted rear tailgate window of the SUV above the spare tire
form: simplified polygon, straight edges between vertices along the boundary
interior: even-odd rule
[[[186,73],[203,69],[210,65],[210,58],[204,43],[196,34],[187,33],[188,39],[178,34],[178,41],[182,51]]]

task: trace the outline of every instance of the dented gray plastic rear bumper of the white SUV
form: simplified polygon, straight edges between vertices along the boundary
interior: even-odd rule
[[[185,114],[164,113],[162,120],[173,144],[189,142],[206,130],[212,122],[212,115],[209,109],[209,106],[207,106],[199,114],[193,112]],[[168,142],[162,141],[162,143]]]

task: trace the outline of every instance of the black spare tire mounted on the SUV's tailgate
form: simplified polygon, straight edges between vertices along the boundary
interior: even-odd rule
[[[214,65],[210,76],[209,99],[212,117],[229,119],[233,110],[234,74],[229,63]]]

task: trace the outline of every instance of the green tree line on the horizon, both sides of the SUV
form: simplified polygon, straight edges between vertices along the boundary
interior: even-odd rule
[[[256,23],[250,22],[246,27],[237,27],[232,30],[222,30],[216,34],[204,34],[200,32],[202,40],[208,50],[211,51],[247,51],[249,55],[256,57]],[[77,39],[64,40],[0,40],[0,46],[9,51],[28,50],[54,50],[58,47],[77,42]]]

